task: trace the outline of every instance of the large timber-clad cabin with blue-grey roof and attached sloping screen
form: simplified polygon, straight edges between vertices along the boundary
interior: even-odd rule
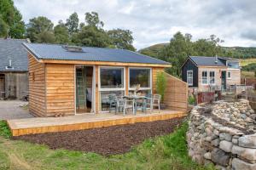
[[[109,111],[109,94],[128,95],[137,84],[155,94],[156,74],[170,63],[125,49],[24,43],[28,51],[29,111],[67,116]],[[187,83],[167,75],[166,108],[187,109]]]

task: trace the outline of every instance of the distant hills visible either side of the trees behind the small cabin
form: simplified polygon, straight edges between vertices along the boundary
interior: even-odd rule
[[[138,52],[141,54],[146,54],[149,56],[156,57],[160,50],[166,47],[169,43],[158,43],[148,48],[140,49]],[[248,58],[256,58],[256,47],[221,47],[224,54],[228,54],[228,57],[233,57],[236,59],[248,59]]]

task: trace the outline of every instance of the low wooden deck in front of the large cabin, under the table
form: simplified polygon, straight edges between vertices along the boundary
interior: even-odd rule
[[[97,127],[131,124],[136,122],[153,122],[186,116],[184,111],[153,111],[151,114],[138,113],[136,116],[128,114],[101,113],[81,114],[64,117],[33,117],[9,120],[8,124],[13,136],[33,133],[64,132],[83,130]]]

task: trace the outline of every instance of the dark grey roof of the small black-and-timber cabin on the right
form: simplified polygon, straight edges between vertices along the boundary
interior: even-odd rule
[[[195,63],[195,65],[206,65],[206,66],[226,66],[221,59],[216,61],[216,57],[204,57],[204,56],[189,56],[189,58]]]

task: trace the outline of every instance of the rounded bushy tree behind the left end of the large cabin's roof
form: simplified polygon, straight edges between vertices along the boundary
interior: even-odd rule
[[[38,16],[29,20],[27,25],[27,37],[32,42],[55,42],[53,23],[44,16]]]

